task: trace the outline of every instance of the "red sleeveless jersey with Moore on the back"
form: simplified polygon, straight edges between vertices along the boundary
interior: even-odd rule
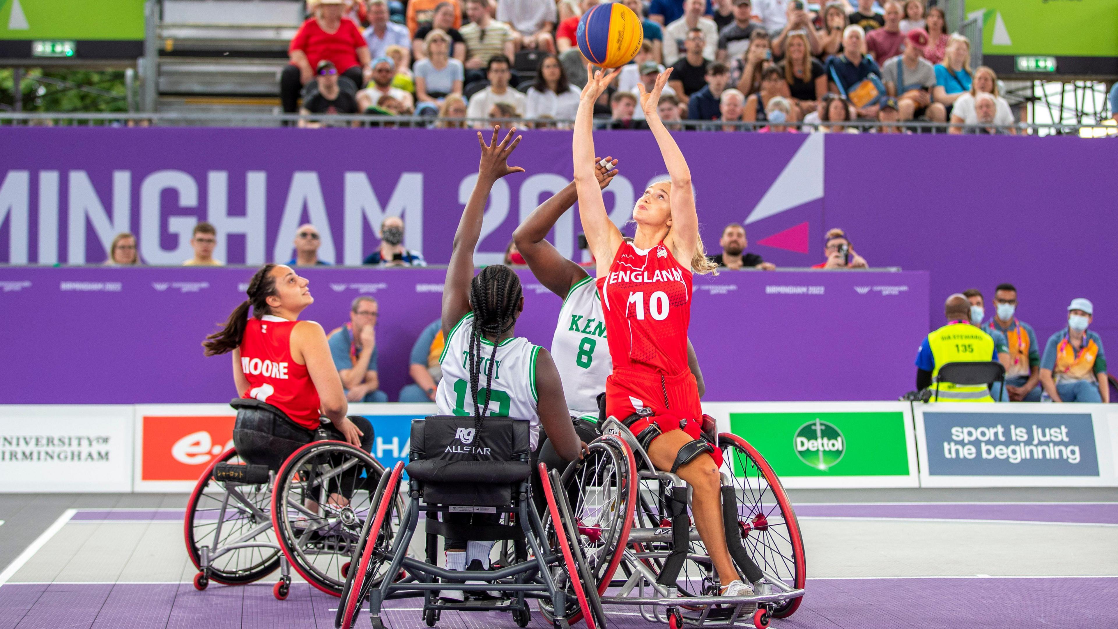
[[[296,323],[271,314],[248,320],[240,341],[240,370],[248,379],[243,397],[272,404],[296,424],[318,430],[319,392],[306,365],[291,357],[291,331]]]

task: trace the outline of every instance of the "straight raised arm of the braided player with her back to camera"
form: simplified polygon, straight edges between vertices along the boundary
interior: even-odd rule
[[[474,191],[466,201],[462,213],[458,229],[454,233],[454,247],[451,250],[451,264],[446,267],[446,284],[443,289],[443,335],[448,336],[451,328],[470,312],[470,282],[474,279],[474,248],[482,233],[482,215],[485,213],[485,201],[489,199],[493,182],[512,172],[523,172],[519,166],[509,166],[509,156],[520,143],[512,134],[513,126],[498,142],[501,125],[493,126],[493,138],[486,144],[481,131],[477,132],[477,143],[482,147],[482,160],[477,167],[477,181]]]

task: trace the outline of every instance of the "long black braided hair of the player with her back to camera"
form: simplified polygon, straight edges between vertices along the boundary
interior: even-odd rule
[[[490,387],[493,384],[493,365],[501,335],[512,329],[520,314],[520,299],[523,291],[520,278],[503,264],[494,264],[482,269],[482,272],[470,282],[470,307],[474,312],[474,326],[470,335],[470,394],[474,401],[474,428],[481,430],[482,417],[489,413],[491,397]],[[490,354],[489,367],[485,369],[485,405],[477,401],[479,384],[481,384],[482,338],[492,336],[498,339]]]

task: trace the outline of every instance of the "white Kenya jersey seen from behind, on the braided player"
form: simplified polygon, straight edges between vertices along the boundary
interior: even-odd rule
[[[443,356],[443,381],[435,394],[435,403],[440,415],[458,415],[472,417],[474,401],[470,392],[470,336],[474,327],[474,316],[468,313],[459,320],[446,337]],[[515,417],[531,422],[532,449],[539,441],[540,414],[536,404],[536,355],[540,346],[532,345],[523,337],[508,338],[496,347],[493,358],[493,383],[491,402],[486,416]],[[477,378],[477,400],[481,407],[485,406],[486,372],[490,367],[490,356],[493,356],[493,344],[482,339],[480,362],[481,375]]]

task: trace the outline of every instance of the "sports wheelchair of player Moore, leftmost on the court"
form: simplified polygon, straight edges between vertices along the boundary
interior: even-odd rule
[[[256,400],[235,409],[282,411]],[[371,435],[370,435],[371,436]],[[205,590],[212,580],[252,583],[281,570],[276,599],[291,589],[291,567],[313,586],[340,595],[349,557],[373,510],[372,489],[388,475],[369,452],[319,429],[278,469],[221,453],[198,479],[183,524],[187,552]]]

